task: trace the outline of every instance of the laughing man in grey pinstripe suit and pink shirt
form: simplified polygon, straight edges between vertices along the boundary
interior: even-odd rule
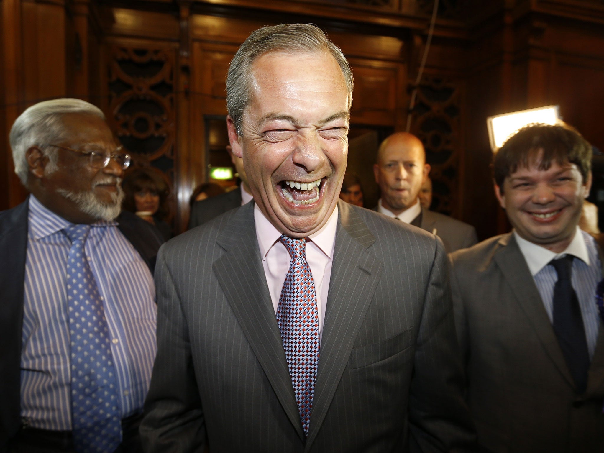
[[[312,25],[237,51],[227,125],[254,202],[160,251],[147,451],[472,449],[442,243],[338,203],[352,84]]]

